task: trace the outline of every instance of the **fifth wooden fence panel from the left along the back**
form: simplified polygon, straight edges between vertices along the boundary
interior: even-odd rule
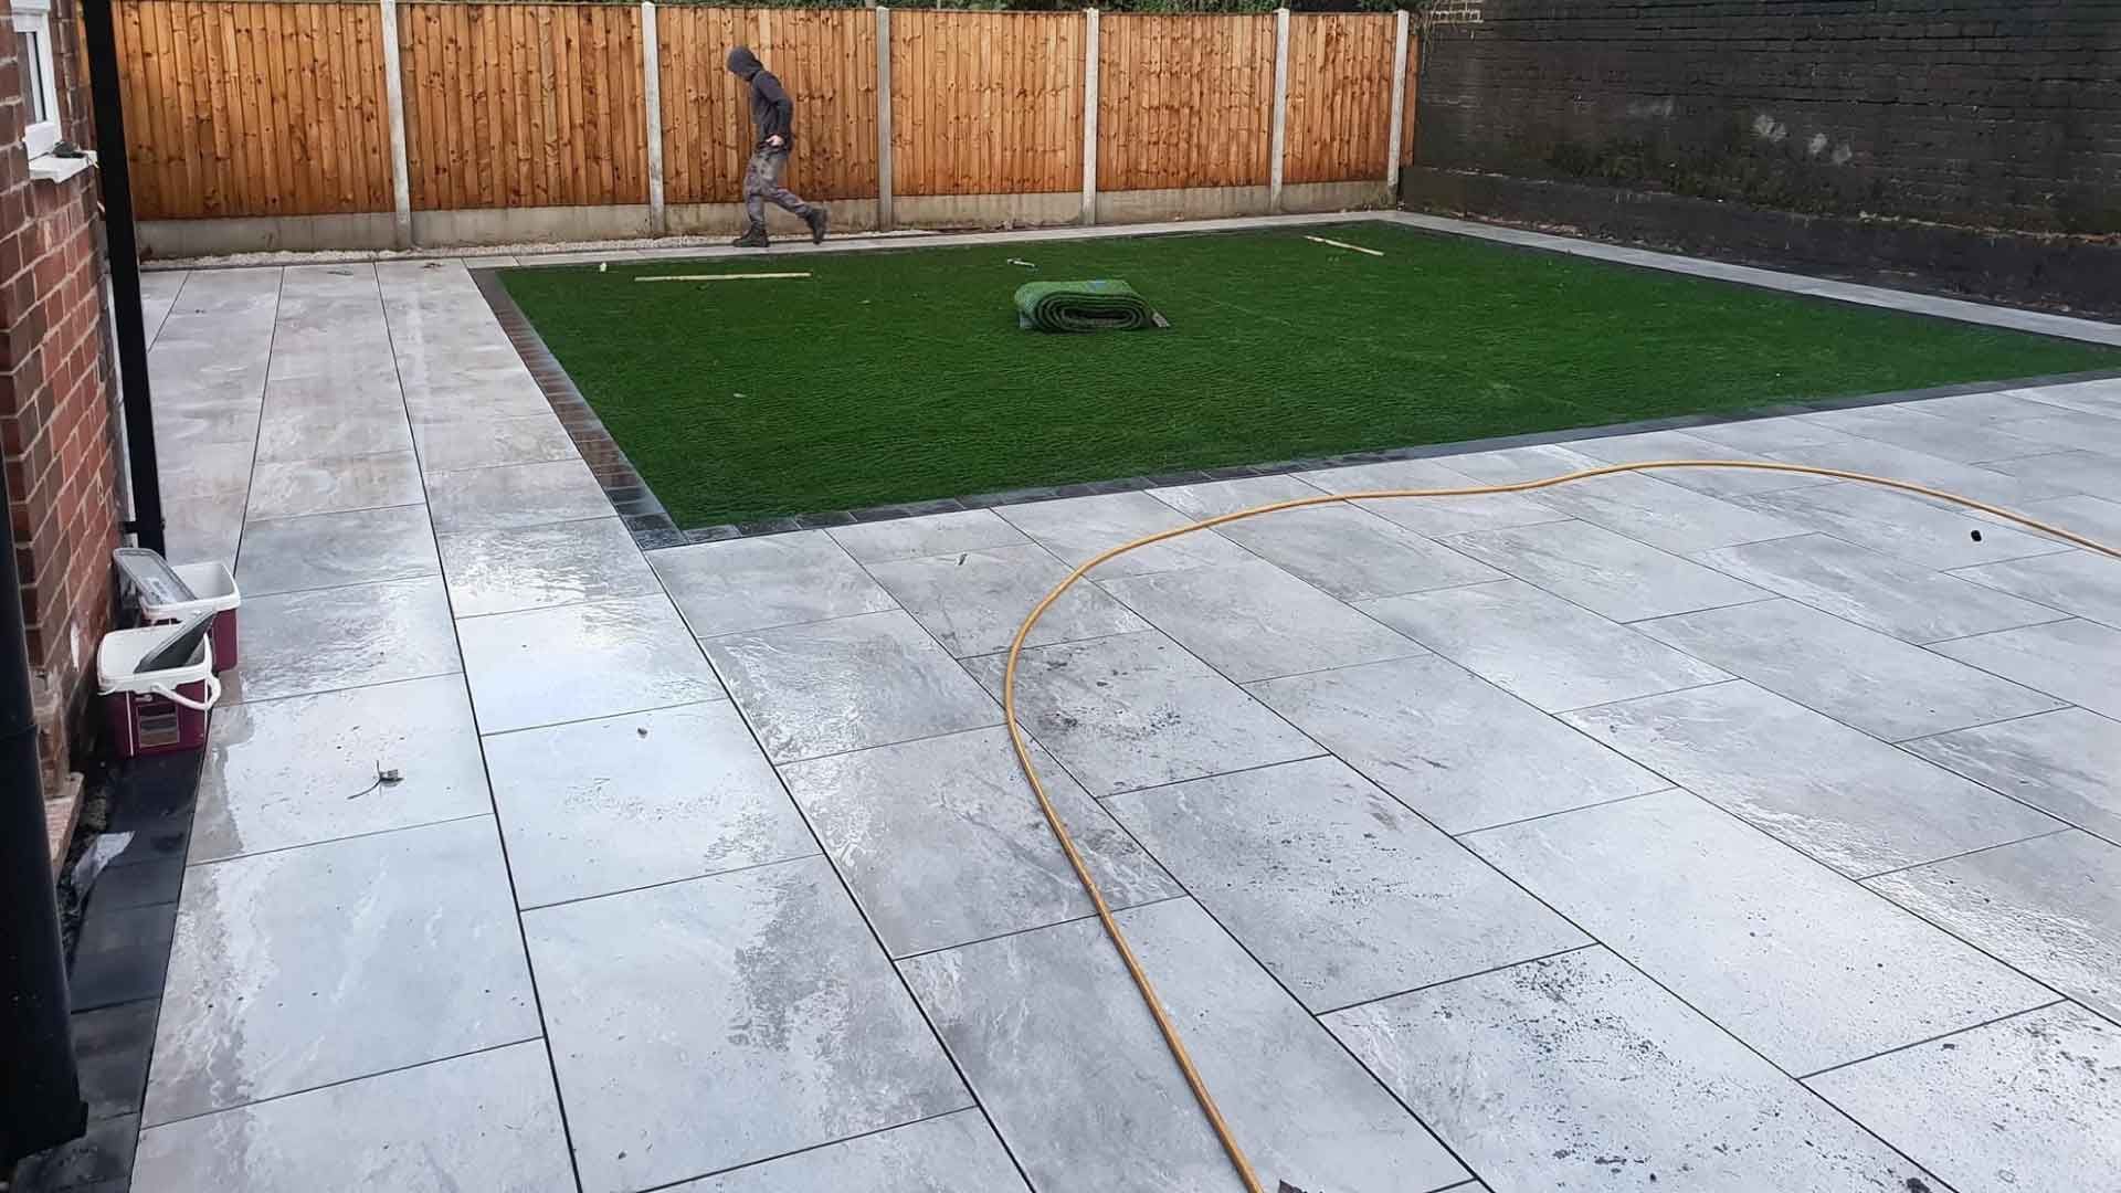
[[[1099,19],[1097,187],[1264,187],[1275,17]]]

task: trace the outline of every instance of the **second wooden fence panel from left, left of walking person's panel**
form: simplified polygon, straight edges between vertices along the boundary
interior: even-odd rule
[[[416,210],[647,202],[641,8],[399,8]]]

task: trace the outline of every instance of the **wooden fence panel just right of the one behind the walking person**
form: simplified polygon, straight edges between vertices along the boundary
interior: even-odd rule
[[[1082,189],[1082,13],[891,11],[891,189]]]

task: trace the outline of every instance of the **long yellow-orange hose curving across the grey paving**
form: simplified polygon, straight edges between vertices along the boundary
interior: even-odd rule
[[[1022,726],[1016,724],[1016,662],[1024,652],[1024,639],[1031,635],[1031,628],[1039,624],[1039,618],[1046,616],[1046,609],[1050,609],[1052,603],[1058,601],[1063,592],[1073,588],[1075,582],[1088,575],[1090,569],[1094,569],[1097,565],[1137,548],[1160,543],[1164,539],[1175,539],[1179,535],[1190,535],[1194,531],[1207,531],[1211,526],[1222,526],[1226,522],[1258,518],[1260,514],[1275,514],[1279,509],[1328,505],[1334,501],[1372,501],[1385,497],[1478,497],[1489,492],[1525,492],[1531,488],[1550,488],[1555,484],[1567,484],[1572,480],[1589,480],[1593,476],[1610,476],[1620,471],[1682,469],[1682,467],[1792,471],[1792,473],[1824,476],[1835,480],[1860,480],[1864,484],[1898,488],[1903,492],[1915,492],[1922,497],[1936,497],[1943,501],[1951,501],[1956,505],[1964,505],[1968,509],[1994,514],[1998,518],[2004,518],[2006,522],[2017,522],[2019,526],[2040,531],[2043,535],[2053,535],[2062,541],[2076,543],[2085,550],[2121,558],[2121,550],[2064,531],[2059,526],[2049,526],[2047,522],[2038,522],[2034,518],[2026,518],[2023,514],[2013,514],[2009,509],[1998,509],[1996,505],[1987,505],[1970,497],[1960,497],[1958,492],[1945,492],[1941,488],[1928,488],[1905,480],[1890,480],[1860,471],[1843,471],[1843,469],[1828,469],[1813,465],[1767,463],[1767,461],[1642,461],[1642,463],[1582,469],[1563,476],[1548,476],[1542,480],[1521,480],[1514,484],[1470,484],[1463,488],[1381,488],[1372,492],[1321,492],[1319,497],[1298,497],[1294,501],[1275,501],[1270,505],[1256,505],[1251,509],[1239,509],[1234,514],[1203,518],[1186,526],[1173,526],[1169,531],[1158,531],[1154,535],[1141,535],[1139,539],[1099,552],[1097,556],[1080,565],[1075,571],[1067,573],[1067,577],[1063,577],[1060,584],[1056,584],[1054,590],[1048,592],[1044,601],[1031,607],[1031,613],[1024,618],[1024,624],[1016,626],[1016,639],[1010,641],[1010,662],[1007,669],[1003,669],[1001,673],[1001,713],[1010,726],[1010,743],[1016,747],[1016,762],[1024,768],[1024,779],[1031,781],[1031,794],[1039,798],[1039,811],[1046,813],[1046,824],[1052,828],[1054,838],[1060,841],[1060,851],[1067,853],[1067,862],[1075,870],[1075,881],[1080,881],[1082,889],[1090,894],[1090,902],[1097,906],[1097,919],[1099,923],[1105,926],[1105,936],[1111,938],[1111,945],[1120,951],[1120,959],[1126,962],[1126,972],[1128,976],[1135,979],[1135,989],[1141,991],[1141,1002],[1150,1008],[1150,1015],[1156,1019],[1156,1030],[1162,1032],[1164,1044],[1171,1047],[1171,1057],[1179,1064],[1179,1070],[1186,1074],[1186,1085],[1192,1087],[1194,1100],[1200,1104],[1200,1112],[1207,1114],[1209,1125],[1215,1129],[1215,1138],[1220,1138],[1224,1151],[1230,1153],[1230,1163],[1237,1168],[1237,1174],[1245,1182],[1247,1193],[1266,1193],[1266,1187],[1260,1185],[1260,1174],[1254,1172],[1251,1161],[1245,1159],[1245,1148],[1239,1146],[1237,1136],[1230,1131],[1230,1123],[1224,1121],[1222,1110],[1215,1106],[1215,1097],[1209,1093],[1207,1083],[1194,1068],[1192,1055],[1188,1055],[1186,1042],[1179,1038],[1177,1027],[1171,1023],[1171,1017],[1164,1015],[1164,1006],[1156,998],[1156,987],[1150,983],[1150,974],[1141,970],[1141,962],[1135,957],[1135,949],[1128,947],[1126,934],[1120,932],[1120,926],[1111,917],[1111,906],[1105,902],[1105,894],[1097,887],[1097,879],[1090,877],[1090,868],[1084,864],[1082,851],[1075,849],[1075,838],[1069,836],[1067,826],[1060,822],[1060,813],[1054,809],[1052,798],[1046,794],[1046,783],[1039,781],[1037,766],[1031,764],[1031,747],[1024,741]]]

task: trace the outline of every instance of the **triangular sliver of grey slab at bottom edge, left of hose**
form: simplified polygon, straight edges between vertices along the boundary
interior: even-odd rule
[[[1027,1193],[978,1110],[770,1159],[670,1193]]]

